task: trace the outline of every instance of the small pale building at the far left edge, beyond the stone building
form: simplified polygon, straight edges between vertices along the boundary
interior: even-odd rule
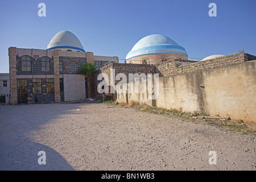
[[[0,103],[9,103],[10,76],[9,73],[0,73]]]

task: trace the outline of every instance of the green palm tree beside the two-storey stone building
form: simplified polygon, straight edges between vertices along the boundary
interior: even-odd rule
[[[94,92],[93,92],[93,74],[97,70],[97,64],[95,64],[95,61],[93,63],[82,63],[81,67],[77,69],[82,73],[82,75],[88,77],[88,82],[89,82],[89,97],[94,97]]]

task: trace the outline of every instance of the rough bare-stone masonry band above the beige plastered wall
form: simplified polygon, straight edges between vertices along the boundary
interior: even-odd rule
[[[98,73],[106,73],[110,78],[110,70],[115,69],[115,76],[118,73],[124,73],[127,77],[129,73],[158,73],[159,77],[177,75],[182,73],[203,71],[205,69],[220,68],[237,63],[243,63],[249,60],[256,60],[256,56],[247,53],[237,53],[234,55],[216,57],[214,59],[204,61],[190,61],[190,60],[172,60],[155,65],[145,64],[119,64],[112,63],[102,67]],[[118,81],[115,81],[117,84]]]

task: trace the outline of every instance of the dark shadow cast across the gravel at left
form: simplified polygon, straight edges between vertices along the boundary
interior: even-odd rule
[[[36,130],[46,126],[79,105],[1,105],[0,106],[0,170],[73,170],[52,148],[32,139]],[[15,112],[13,112],[15,111]],[[46,164],[39,164],[39,151],[46,152]]]

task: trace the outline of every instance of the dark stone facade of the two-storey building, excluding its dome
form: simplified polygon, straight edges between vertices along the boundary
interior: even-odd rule
[[[31,57],[31,71],[22,71],[22,56]],[[42,57],[47,56],[50,59],[49,71],[42,71]],[[81,88],[84,85],[83,79],[80,79],[81,73],[79,71],[71,71],[68,69],[68,65],[71,62],[75,62],[78,66],[82,63],[93,63],[94,57],[97,61],[105,61],[110,59],[110,56],[94,56],[93,52],[71,52],[71,51],[58,51],[58,50],[43,50],[43,49],[24,49],[24,48],[9,48],[9,65],[10,65],[10,104],[18,104],[18,92],[17,92],[17,79],[27,80],[27,94],[26,100],[28,104],[44,103],[44,102],[60,102],[64,101],[63,90],[60,90],[60,78],[64,75],[75,75],[73,82],[75,89],[72,89],[72,81],[69,81],[68,76],[65,76],[68,83],[64,82],[67,100],[85,99],[85,88]],[[118,60],[118,57],[113,57]],[[63,62],[63,71],[60,71],[60,61]],[[77,76],[77,77],[76,77]],[[43,84],[44,78],[54,78],[55,93],[48,94],[44,92],[46,84]],[[72,76],[70,76],[72,77]],[[32,93],[32,78],[42,79],[42,94]],[[77,80],[76,80],[77,79]],[[65,80],[65,79],[64,79]],[[81,83],[79,83],[81,81]],[[68,86],[71,88],[68,88]],[[79,92],[76,92],[78,90]],[[91,92],[90,89],[89,93]],[[81,94],[80,94],[81,93]],[[74,96],[73,96],[74,95]]]

